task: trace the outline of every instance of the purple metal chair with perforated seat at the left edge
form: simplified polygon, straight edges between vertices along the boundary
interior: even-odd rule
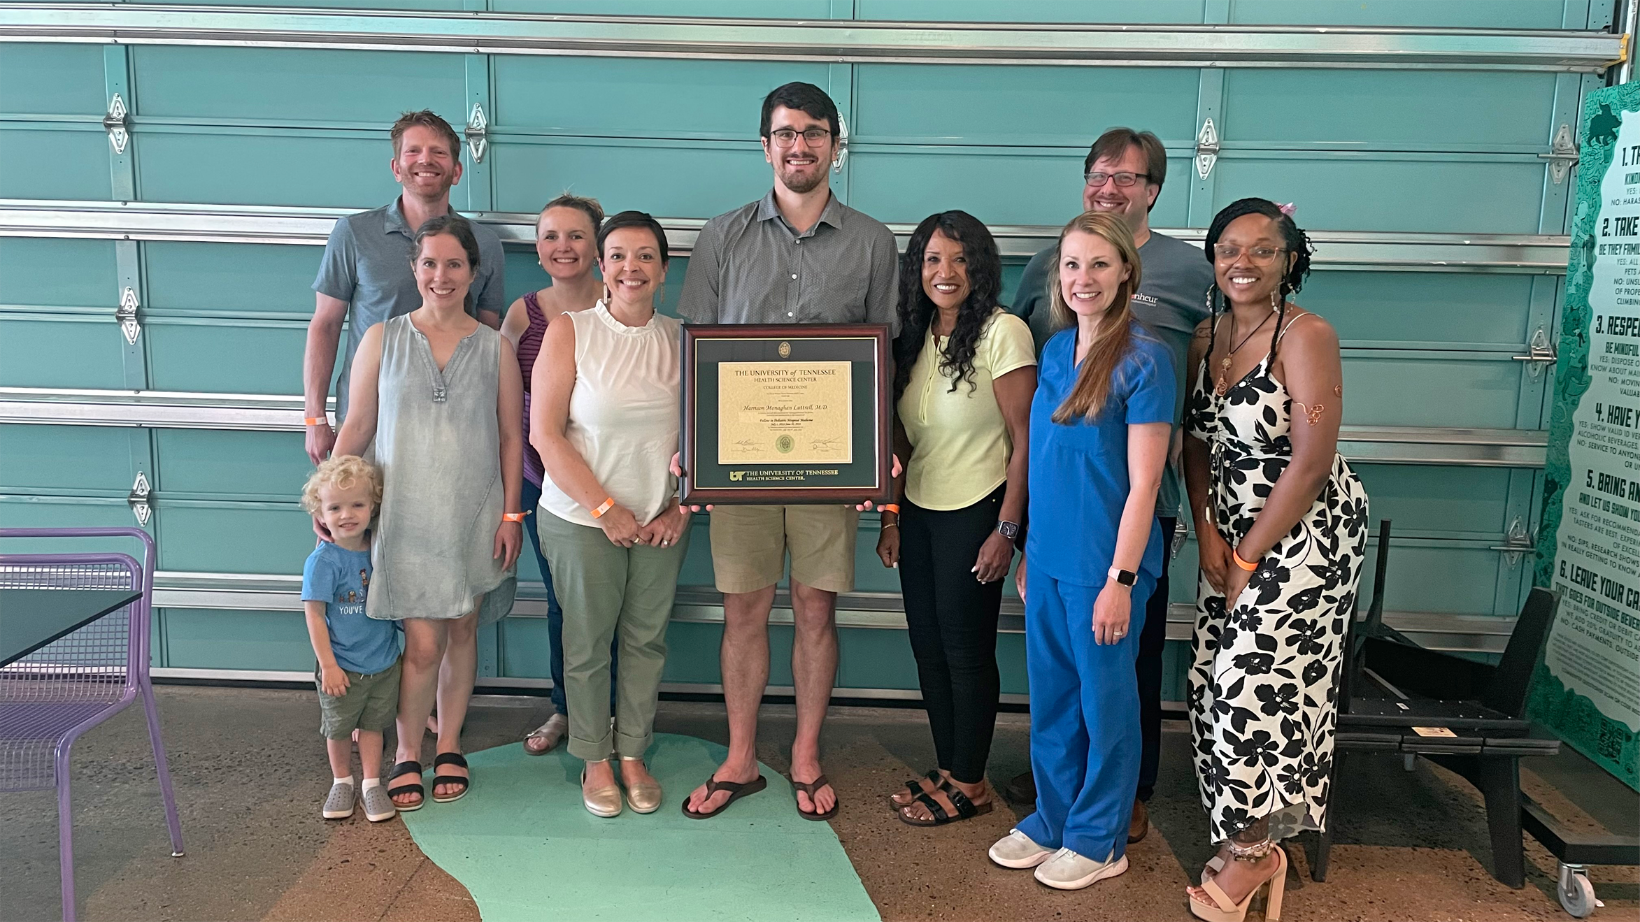
[[[0,668],[0,791],[57,789],[62,919],[74,922],[74,820],[69,748],[80,733],[143,697],[166,801],[171,853],[182,855],[182,824],[171,791],[159,710],[148,679],[154,599],[154,540],[139,528],[0,528],[0,538],[136,538],[143,563],[118,553],[3,555],[0,587],[138,589],[141,599]]]

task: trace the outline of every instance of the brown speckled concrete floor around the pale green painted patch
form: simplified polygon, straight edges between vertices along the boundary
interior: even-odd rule
[[[74,751],[82,919],[479,917],[461,884],[421,856],[403,824],[372,825],[362,814],[343,822],[318,817],[330,776],[312,691],[169,686],[159,689],[159,702],[187,856],[169,856],[143,712],[128,709]],[[544,699],[476,699],[469,750],[517,742],[548,707]],[[763,727],[759,755],[784,769],[792,709],[766,707]],[[722,705],[664,702],[656,728],[723,742]],[[1174,723],[1164,735],[1163,776],[1151,802],[1155,828],[1130,848],[1132,870],[1089,891],[1050,891],[1028,873],[986,860],[986,847],[1017,820],[1009,809],[933,830],[894,819],[886,796],[932,763],[920,710],[831,710],[825,765],[843,801],[833,828],[886,920],[1187,919],[1184,886],[1209,848],[1182,730]],[[1023,715],[1002,715],[991,765],[995,781],[1025,768],[1027,735]],[[1612,832],[1633,833],[1640,799],[1591,773],[1581,756],[1553,760],[1542,773],[1528,763],[1524,786],[1573,824],[1596,830],[1601,819]],[[666,809],[682,794],[667,791]],[[51,792],[5,794],[0,804],[7,820],[0,824],[0,919],[59,917]],[[1440,768],[1420,761],[1409,773],[1399,758],[1353,760],[1335,810],[1338,833],[1325,884],[1307,879],[1307,861],[1294,850],[1284,911],[1292,922],[1568,919],[1553,896],[1555,861],[1535,842],[1527,847],[1524,889],[1491,878],[1479,797]],[[1596,868],[1591,876],[1606,901],[1596,920],[1640,915],[1640,871]],[[702,879],[710,886],[708,873]]]

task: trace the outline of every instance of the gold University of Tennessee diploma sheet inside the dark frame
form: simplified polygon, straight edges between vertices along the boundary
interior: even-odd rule
[[[718,461],[853,463],[850,366],[718,363]]]

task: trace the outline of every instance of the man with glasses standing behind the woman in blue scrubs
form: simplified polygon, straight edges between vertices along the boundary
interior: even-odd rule
[[[1168,454],[1168,468],[1161,477],[1161,495],[1156,497],[1156,518],[1161,522],[1161,533],[1169,541],[1178,527],[1179,502],[1184,495],[1179,477],[1179,417],[1184,409],[1186,354],[1191,346],[1191,335],[1196,325],[1207,318],[1207,289],[1214,284],[1212,262],[1202,259],[1197,246],[1164,236],[1150,230],[1150,210],[1156,207],[1156,195],[1168,177],[1168,154],[1150,131],[1133,131],[1132,128],[1112,128],[1094,141],[1082,162],[1082,210],[1109,212],[1122,218],[1133,230],[1133,244],[1138,248],[1141,266],[1138,292],[1133,294],[1133,317],[1150,326],[1168,351],[1173,353],[1173,367],[1179,376],[1178,400],[1173,409],[1173,448]],[[1023,317],[1036,340],[1036,351],[1055,333],[1048,310],[1048,269],[1055,262],[1056,246],[1050,246],[1032,258],[1020,277],[1018,295],[1014,299],[1014,313]],[[1138,842],[1150,830],[1150,814],[1145,802],[1150,801],[1156,787],[1156,766],[1161,750],[1161,651],[1168,633],[1168,559],[1161,558],[1161,577],[1156,579],[1156,591],[1145,605],[1145,627],[1140,633],[1138,661],[1135,673],[1138,678],[1140,728],[1145,740],[1145,751],[1140,758],[1138,792],[1133,801],[1133,815],[1128,822],[1128,842]],[[1023,596],[1023,589],[1020,592]],[[1035,801],[1036,786],[1030,773],[1015,778],[1009,784],[1009,797],[1014,801]]]

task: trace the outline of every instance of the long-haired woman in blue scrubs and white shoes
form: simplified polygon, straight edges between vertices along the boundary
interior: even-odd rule
[[[1055,320],[1030,415],[1025,597],[1036,812],[991,847],[1004,868],[1081,889],[1127,871],[1138,787],[1133,660],[1161,573],[1156,491],[1168,459],[1168,348],[1133,320],[1133,231],[1087,212],[1059,233]],[[1133,599],[1140,599],[1138,605]]]

